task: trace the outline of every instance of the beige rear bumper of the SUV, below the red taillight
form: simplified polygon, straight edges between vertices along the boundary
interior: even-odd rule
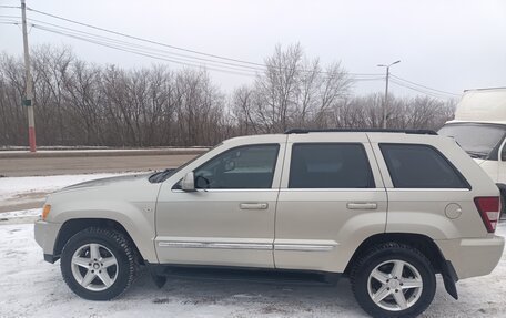
[[[503,256],[504,237],[459,238],[435,240],[458,279],[488,275]]]

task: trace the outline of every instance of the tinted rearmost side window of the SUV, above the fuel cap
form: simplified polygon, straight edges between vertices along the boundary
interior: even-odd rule
[[[458,171],[427,145],[380,144],[394,187],[469,188]]]

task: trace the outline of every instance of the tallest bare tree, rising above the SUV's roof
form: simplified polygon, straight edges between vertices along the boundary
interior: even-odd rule
[[[285,50],[277,45],[265,64],[253,88],[237,89],[232,99],[237,120],[255,133],[326,126],[330,110],[352,84],[340,63],[323,71],[320,60],[305,58],[300,44]]]

